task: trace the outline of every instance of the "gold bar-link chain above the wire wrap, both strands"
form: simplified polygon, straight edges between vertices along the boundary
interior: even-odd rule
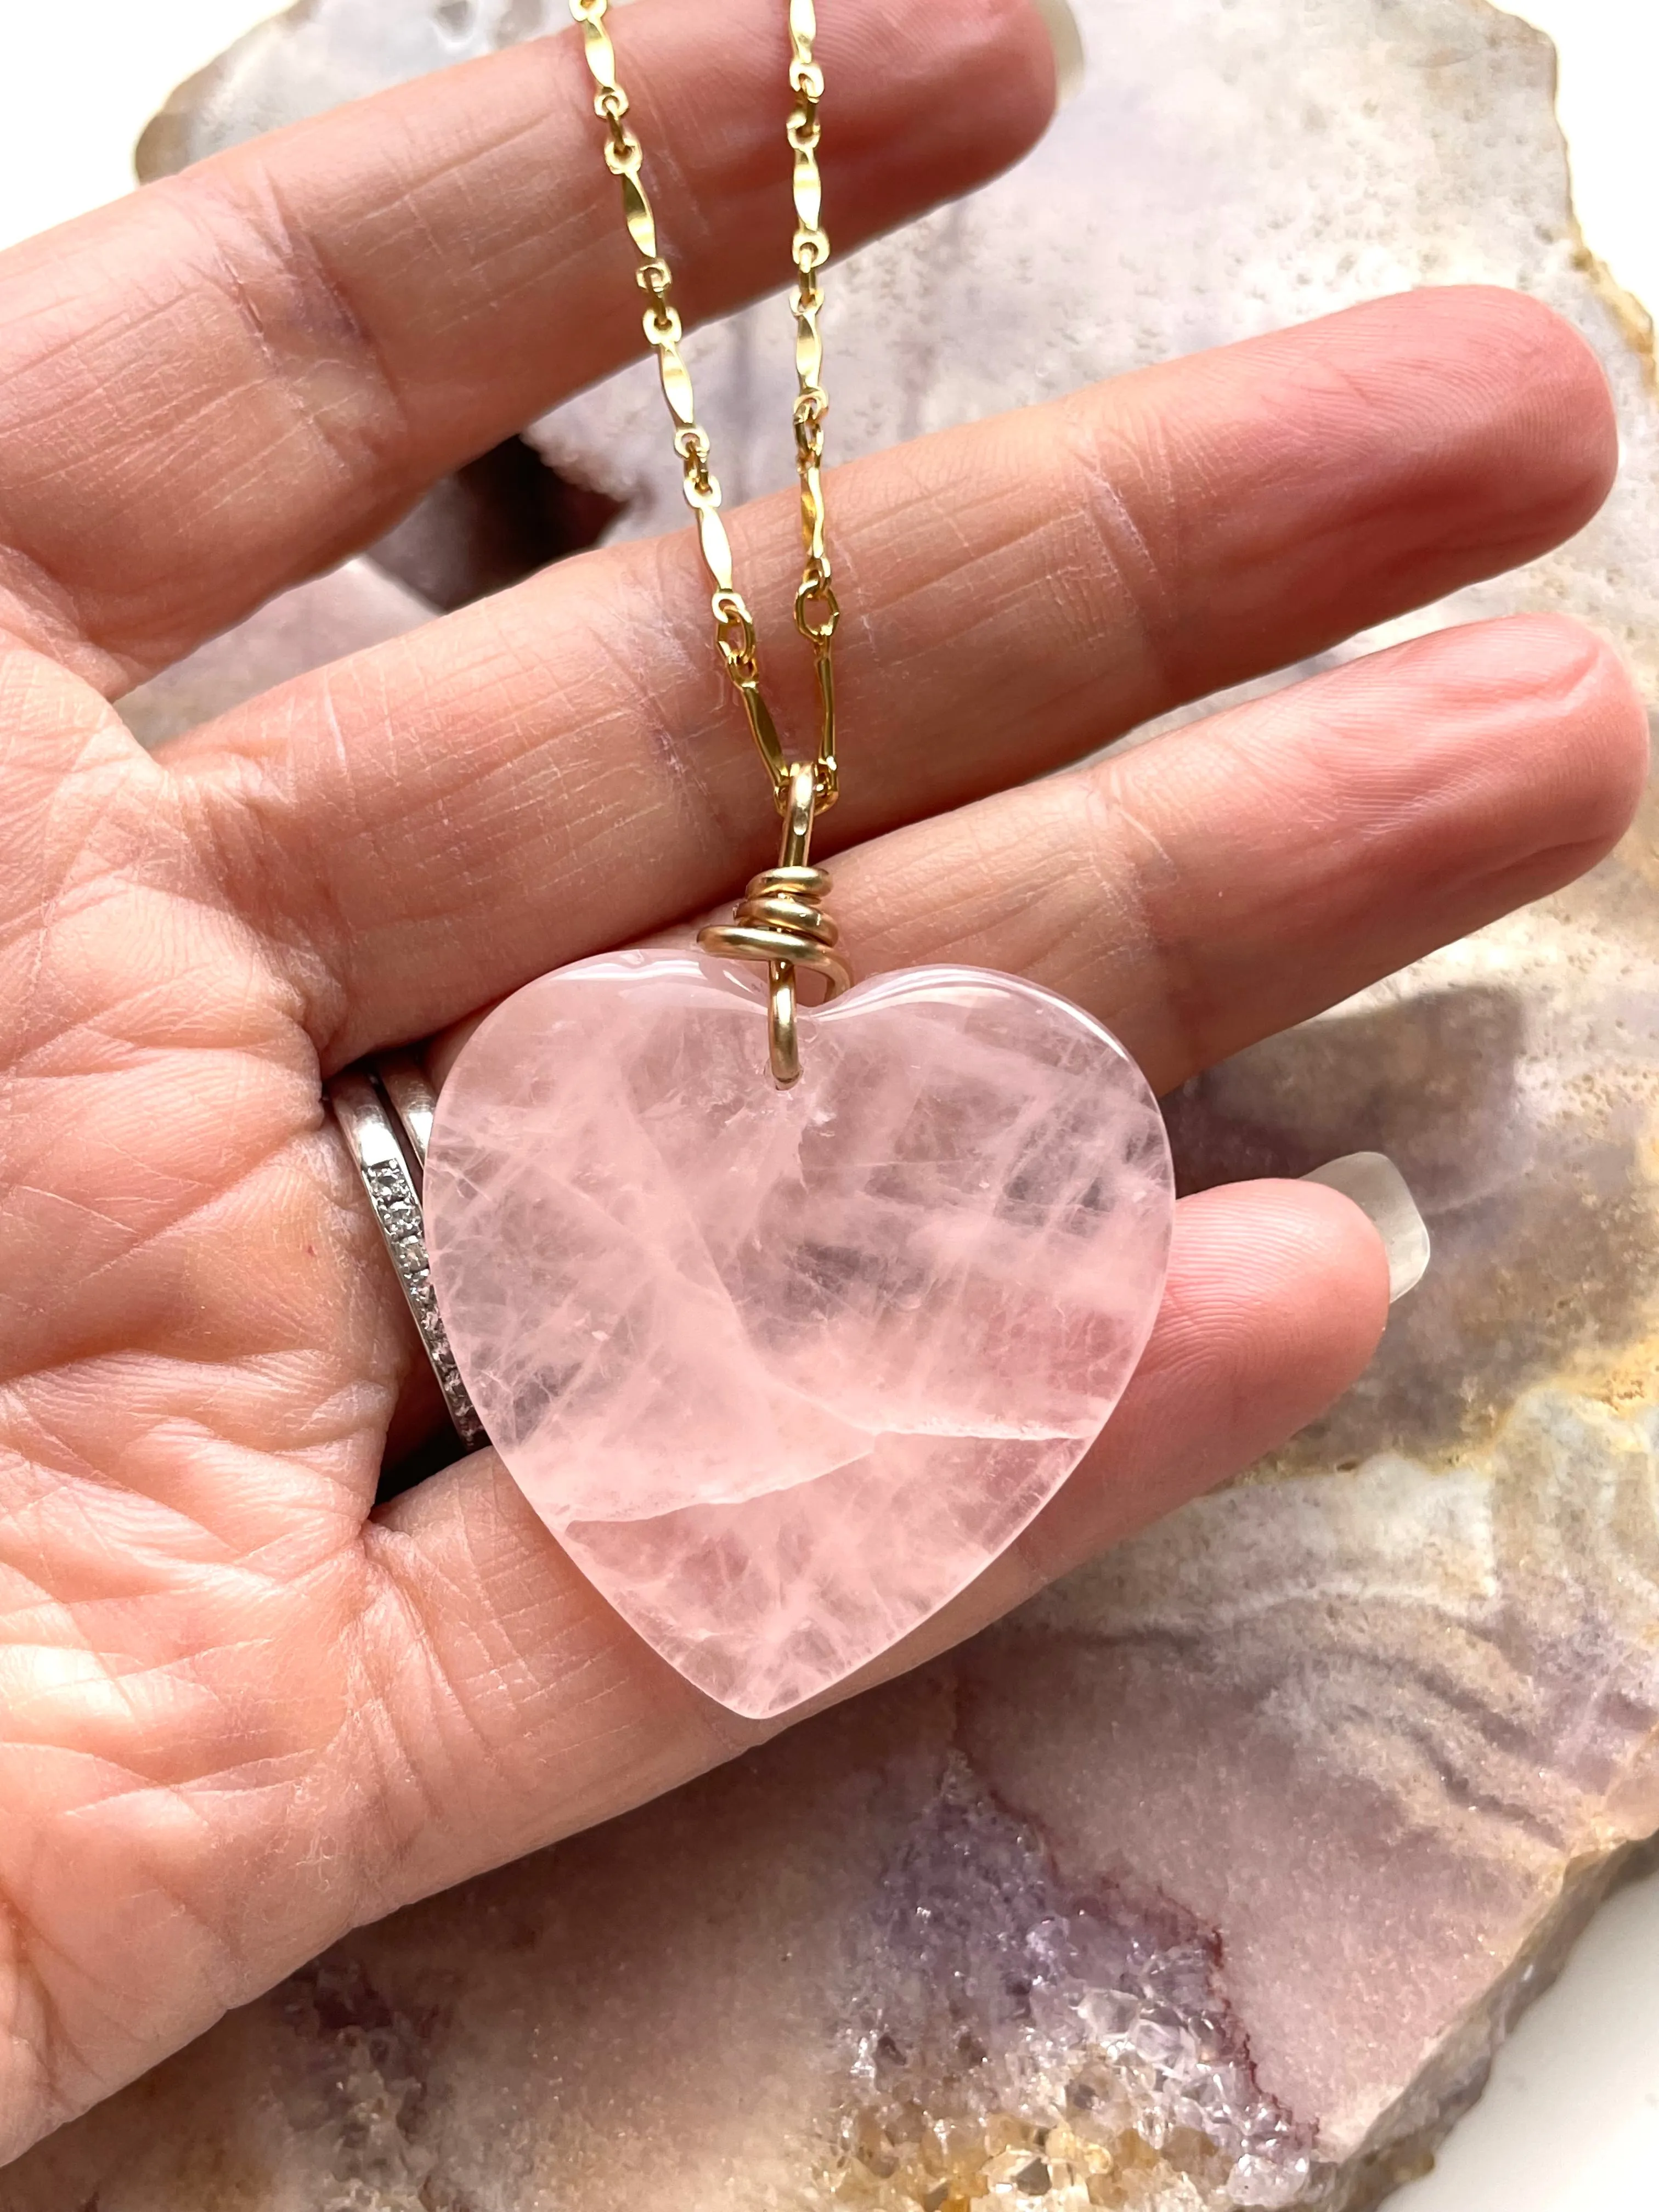
[[[628,128],[628,95],[617,82],[617,55],[606,29],[611,0],[571,0],[571,15],[582,24],[588,71],[595,95],[593,113],[606,126],[606,168],[622,184],[622,215],[628,237],[639,252],[637,281],[646,294],[646,341],[657,354],[661,394],[675,422],[675,451],[681,462],[681,489],[686,504],[697,520],[697,538],[703,553],[703,568],[714,586],[710,611],[714,615],[714,644],[726,675],[743,701],[750,734],[765,761],[772,779],[772,796],[779,814],[792,805],[794,763],[790,763],[779,737],[772,710],[761,695],[761,666],[754,639],[754,617],[743,593],[732,577],[732,544],[721,522],[721,487],[708,467],[708,431],[697,420],[690,372],[679,352],[681,321],[672,307],[672,272],[657,250],[657,219],[639,177],[641,146]],[[794,624],[812,646],[812,664],[818,686],[818,750],[812,761],[812,790],[816,812],[832,807],[838,796],[836,774],[836,684],[832,644],[841,608],[836,606],[834,577],[830,571],[830,549],[825,544],[823,504],[823,420],[830,400],[823,389],[823,338],[818,316],[823,312],[823,285],[818,274],[830,259],[830,239],[823,232],[823,179],[818,173],[818,104],[823,100],[823,71],[812,46],[818,35],[814,0],[790,0],[790,91],[794,108],[787,122],[787,142],[794,155],[794,270],[796,283],[790,294],[794,314],[794,451],[801,471],[801,544],[805,566],[801,588],[794,595]]]

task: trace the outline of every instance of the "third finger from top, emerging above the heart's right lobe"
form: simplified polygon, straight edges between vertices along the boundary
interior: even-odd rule
[[[860,973],[1046,982],[1157,1091],[1571,883],[1626,832],[1648,717],[1557,615],[1376,653],[845,854]]]

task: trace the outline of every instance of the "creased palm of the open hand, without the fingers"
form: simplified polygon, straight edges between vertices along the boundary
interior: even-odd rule
[[[265,1942],[250,1869],[349,1756],[398,1340],[292,989],[181,790],[22,648],[4,697],[13,805],[20,763],[66,770],[9,821],[0,1124],[4,2108],[51,2117],[142,2064],[186,1962],[212,2017]]]

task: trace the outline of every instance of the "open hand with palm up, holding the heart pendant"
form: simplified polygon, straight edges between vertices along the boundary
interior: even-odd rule
[[[684,188],[659,195],[681,299],[774,283],[781,11],[644,0],[619,42]],[[838,243],[1048,113],[1026,0],[845,0],[823,49]],[[639,352],[613,192],[566,35],[0,261],[2,2152],[352,1922],[754,1736],[493,1453],[374,1511],[389,1431],[436,1402],[319,1099],[770,858],[690,538],[557,566],[157,759],[106,703]],[[860,969],[1031,973],[1168,1088],[1588,867],[1646,739],[1613,655],[1557,619],[1029,779],[1540,553],[1613,462],[1564,325],[1440,292],[843,469],[825,827]],[[792,502],[734,538],[787,606]],[[1305,1422],[1385,1294],[1329,1190],[1188,1201],[1042,1564]],[[929,1641],[1006,1597],[993,1571]]]

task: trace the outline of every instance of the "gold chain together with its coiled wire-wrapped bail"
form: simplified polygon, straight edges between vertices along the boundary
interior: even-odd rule
[[[708,467],[708,431],[697,420],[690,369],[679,349],[684,327],[670,303],[672,270],[657,243],[657,217],[641,181],[644,148],[628,124],[628,95],[617,82],[617,53],[611,44],[606,15],[611,0],[571,0],[571,15],[582,27],[582,42],[593,77],[593,113],[606,128],[604,161],[622,186],[622,217],[639,257],[637,281],[646,294],[646,343],[657,356],[657,374],[675,425],[675,451],[681,467],[681,491],[697,522],[697,544],[708,582],[714,586],[714,646],[726,675],[743,703],[754,748],[772,779],[772,799],[783,814],[783,852],[776,867],[757,876],[730,922],[712,922],[697,942],[723,960],[761,960],[770,973],[770,1057],[772,1077],[787,1086],[801,1075],[801,1042],[796,1035],[796,969],[825,978],[830,998],[845,991],[852,969],[836,947],[836,925],[823,911],[830,878],[807,865],[814,814],[823,814],[841,796],[836,763],[836,677],[832,648],[841,606],[836,602],[825,542],[823,500],[823,422],[830,396],[823,389],[823,285],[818,276],[830,259],[823,230],[823,177],[818,173],[818,104],[823,69],[814,60],[818,35],[814,0],[790,0],[790,93],[794,106],[785,124],[794,188],[794,458],[801,478],[801,588],[794,595],[794,626],[812,648],[812,672],[818,692],[818,743],[810,761],[790,761],[772,710],[761,692],[761,661],[754,639],[754,615],[732,575],[732,542],[721,520],[721,487]]]

